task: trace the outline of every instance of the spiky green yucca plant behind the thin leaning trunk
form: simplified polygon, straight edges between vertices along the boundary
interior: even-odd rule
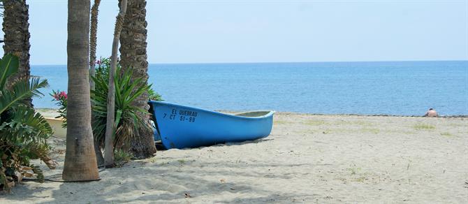
[[[102,145],[105,136],[105,119],[107,115],[108,96],[108,60],[101,59],[96,76],[93,78],[95,89],[92,91],[93,133],[94,138]],[[133,101],[145,92],[151,85],[140,85],[142,79],[131,80],[131,70],[122,72],[117,66],[115,75],[115,150],[128,150],[129,142],[138,133],[138,127],[146,126],[140,115],[148,114],[147,110],[133,105]],[[149,128],[149,127],[148,127]]]

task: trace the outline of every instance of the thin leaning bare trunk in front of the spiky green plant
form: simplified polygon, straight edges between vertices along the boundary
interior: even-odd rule
[[[120,11],[115,22],[114,41],[112,42],[112,55],[110,57],[109,70],[109,91],[108,91],[108,108],[107,119],[105,124],[105,155],[104,163],[106,167],[114,165],[114,133],[115,133],[115,84],[114,75],[117,68],[117,49],[119,48],[120,31],[124,24],[124,16],[126,12],[126,0],[120,2]]]

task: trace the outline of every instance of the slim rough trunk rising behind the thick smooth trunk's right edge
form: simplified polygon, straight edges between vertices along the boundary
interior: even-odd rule
[[[101,0],[94,0],[94,5],[91,8],[91,31],[89,34],[89,75],[94,77],[96,75],[96,46],[97,46],[97,30],[98,30],[98,8]],[[89,77],[89,87],[94,90],[94,80]],[[93,119],[93,117],[92,117]],[[104,165],[104,157],[101,152],[98,140],[94,139],[94,152],[96,153],[96,161],[98,166]]]

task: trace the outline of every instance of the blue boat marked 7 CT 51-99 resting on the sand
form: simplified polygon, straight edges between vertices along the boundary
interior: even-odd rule
[[[148,104],[156,131],[168,150],[265,138],[270,135],[275,114],[253,111],[229,115],[160,101]]]

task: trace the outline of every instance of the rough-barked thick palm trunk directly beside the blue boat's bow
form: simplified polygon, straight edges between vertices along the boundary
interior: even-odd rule
[[[147,85],[148,61],[147,61],[147,22],[146,0],[129,0],[125,15],[124,28],[120,34],[120,64],[125,71],[132,68],[133,78],[142,78],[142,83]],[[136,99],[133,105],[148,110],[148,93],[145,92]],[[141,115],[149,124],[149,115]],[[141,127],[138,137],[132,138],[130,151],[136,158],[147,158],[156,153],[152,129]]]

